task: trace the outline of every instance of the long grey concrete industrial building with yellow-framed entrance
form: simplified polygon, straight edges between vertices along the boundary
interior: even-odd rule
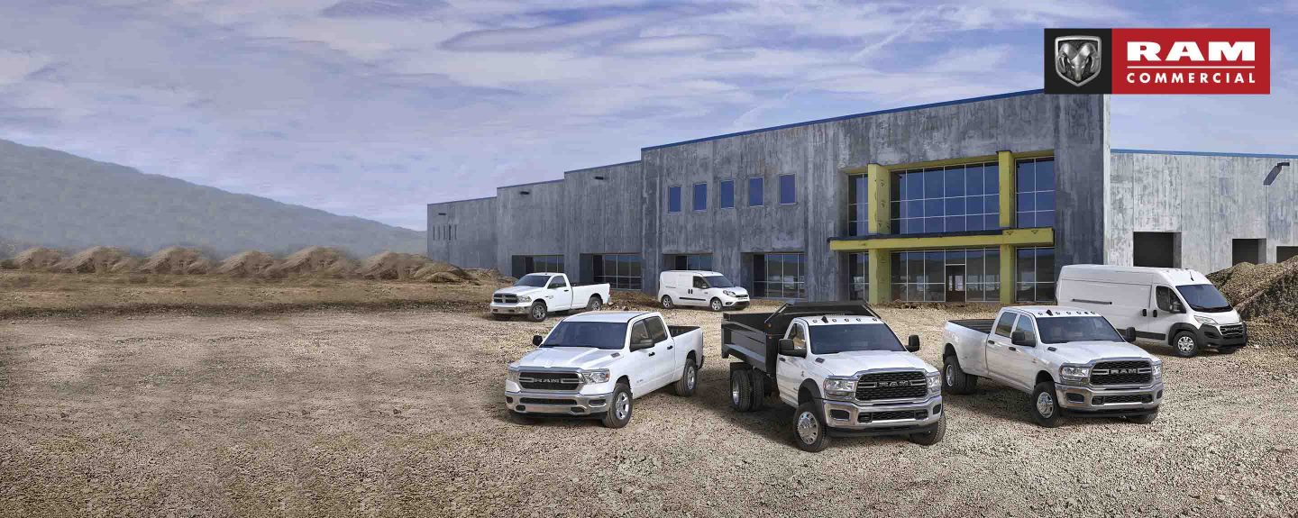
[[[640,151],[428,205],[428,256],[755,297],[1050,301],[1070,264],[1212,271],[1298,252],[1290,157],[1111,149],[1108,97],[1025,91]]]

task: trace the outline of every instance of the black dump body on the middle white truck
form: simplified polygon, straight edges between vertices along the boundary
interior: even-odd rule
[[[775,313],[726,313],[722,317],[722,357],[731,354],[763,373],[775,373],[780,339],[798,317],[879,317],[870,305],[853,302],[788,302]]]

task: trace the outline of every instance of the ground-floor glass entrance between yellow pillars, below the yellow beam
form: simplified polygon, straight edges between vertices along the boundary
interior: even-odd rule
[[[1001,251],[915,251],[892,253],[892,296],[907,302],[1001,300]],[[950,300],[958,301],[958,300]]]

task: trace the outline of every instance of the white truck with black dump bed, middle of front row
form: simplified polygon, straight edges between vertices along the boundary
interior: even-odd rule
[[[762,408],[776,392],[793,413],[793,440],[807,452],[829,436],[905,435],[923,445],[946,434],[941,375],[902,347],[863,302],[790,302],[775,313],[726,313],[722,357],[731,364],[731,406]]]

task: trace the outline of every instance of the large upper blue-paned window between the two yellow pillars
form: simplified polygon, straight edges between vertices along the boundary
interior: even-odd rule
[[[996,162],[893,173],[892,234],[993,230],[1001,226]]]

